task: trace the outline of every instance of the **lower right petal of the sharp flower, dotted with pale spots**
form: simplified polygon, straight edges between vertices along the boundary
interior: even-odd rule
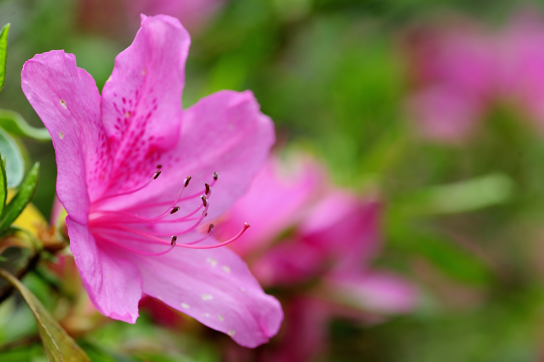
[[[209,240],[209,242],[217,242]],[[268,341],[280,328],[280,303],[264,293],[247,265],[225,247],[175,247],[156,257],[131,253],[143,291],[245,347]]]

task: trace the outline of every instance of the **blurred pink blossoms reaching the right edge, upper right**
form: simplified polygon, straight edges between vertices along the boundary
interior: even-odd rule
[[[459,142],[496,100],[514,102],[544,131],[544,23],[518,15],[496,32],[461,24],[426,30],[411,47],[418,91],[411,117],[424,137]]]

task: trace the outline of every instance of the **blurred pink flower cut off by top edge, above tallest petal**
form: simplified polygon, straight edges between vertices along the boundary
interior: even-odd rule
[[[140,14],[177,17],[189,31],[200,30],[226,0],[124,0],[132,18]]]

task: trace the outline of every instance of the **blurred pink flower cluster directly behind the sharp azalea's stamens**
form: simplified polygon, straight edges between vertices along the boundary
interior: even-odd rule
[[[302,160],[305,172],[295,174],[287,187],[280,161],[271,158],[234,204],[236,212],[231,209],[216,227],[232,230],[239,220],[258,220],[244,235],[253,244],[242,249],[250,268],[263,285],[294,294],[282,300],[288,317],[280,346],[266,354],[267,361],[315,356],[326,345],[334,316],[406,313],[417,300],[411,283],[370,266],[381,246],[379,203],[327,187],[323,168],[310,158]]]

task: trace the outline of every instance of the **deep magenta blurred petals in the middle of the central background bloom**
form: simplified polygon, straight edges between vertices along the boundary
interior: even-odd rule
[[[270,247],[253,266],[264,285],[301,283],[334,269],[358,268],[378,252],[379,205],[331,192],[294,234]]]

